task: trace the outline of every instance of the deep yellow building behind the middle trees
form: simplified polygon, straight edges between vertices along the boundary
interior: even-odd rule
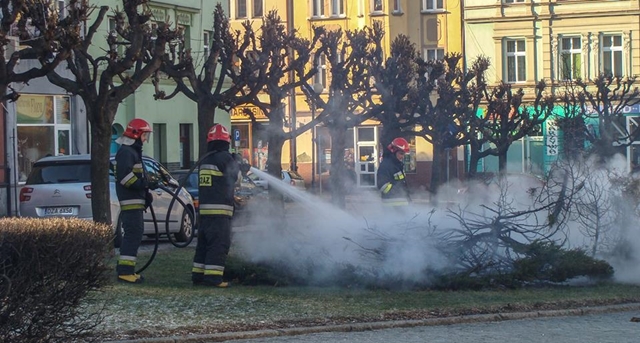
[[[311,38],[313,26],[353,30],[370,27],[374,21],[380,21],[386,32],[385,52],[389,51],[391,41],[399,34],[409,36],[426,58],[441,58],[447,52],[462,51],[460,1],[231,0],[231,26],[241,29],[242,22],[247,19],[254,19],[254,25],[260,25],[258,19],[272,9],[278,10],[287,25],[297,29],[306,38]],[[313,84],[318,91],[324,93],[331,76],[327,75],[323,57],[314,58],[318,59],[319,69]],[[295,103],[292,104],[292,99],[287,102],[289,119],[295,120],[297,126],[308,123],[315,114],[305,100],[305,96],[298,92]],[[246,141],[241,139],[241,149],[248,152],[254,166],[264,167],[261,156],[266,156],[265,137],[260,137],[255,132],[248,118],[242,117],[241,111],[232,112],[231,121],[233,129],[239,130],[242,138],[247,137]],[[353,141],[348,146],[347,154],[354,157],[356,184],[360,187],[372,187],[375,185],[375,171],[379,162],[377,156],[381,153],[378,147],[379,127],[375,122],[368,122],[352,131]],[[413,140],[413,143],[411,160],[407,162],[408,179],[412,183],[425,185],[431,174],[431,146],[420,138]],[[330,144],[328,134],[322,127],[302,134],[293,147],[289,143],[285,144],[283,168],[288,168],[294,161],[308,185],[321,187],[321,180],[328,178]],[[454,158],[453,161],[455,160]],[[452,163],[450,170],[455,177],[457,164]]]

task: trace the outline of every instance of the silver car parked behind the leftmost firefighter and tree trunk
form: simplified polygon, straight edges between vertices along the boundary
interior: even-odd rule
[[[113,161],[114,157],[111,157]],[[144,157],[147,176],[172,192],[178,184],[168,171],[156,160]],[[91,155],[70,155],[45,157],[33,164],[25,185],[20,190],[20,216],[22,217],[77,217],[93,219],[91,210]],[[163,175],[168,175],[164,176]],[[113,169],[109,170],[111,220],[118,223],[120,204],[115,190]],[[159,232],[166,232],[165,219],[173,194],[161,188],[151,191],[153,210],[158,221]],[[181,189],[179,198],[186,204],[183,207],[177,200],[171,209],[169,232],[176,241],[184,242],[194,229],[194,205],[191,195]],[[151,211],[144,214],[146,235],[155,234]],[[119,232],[119,230],[116,230]]]

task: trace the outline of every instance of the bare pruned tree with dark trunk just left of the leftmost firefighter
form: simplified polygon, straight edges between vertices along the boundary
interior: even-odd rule
[[[56,72],[47,74],[51,83],[80,96],[87,110],[91,123],[91,209],[93,220],[100,223],[111,223],[109,147],[118,106],[153,75],[165,59],[167,42],[179,37],[166,23],[151,28],[150,11],[141,10],[148,2],[123,0],[123,11],[115,12],[116,33],[107,37],[109,50],[96,57],[89,49],[109,10],[100,7],[82,43],[66,59],[75,79]]]

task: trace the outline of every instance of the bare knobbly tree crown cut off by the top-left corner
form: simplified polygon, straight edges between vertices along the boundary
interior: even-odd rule
[[[12,83],[26,83],[54,70],[82,41],[81,28],[90,11],[86,0],[70,0],[60,17],[56,3],[44,0],[1,0],[0,101],[15,101]],[[19,40],[20,49],[11,42]],[[30,63],[34,60],[35,63]],[[22,61],[25,67],[19,67]]]

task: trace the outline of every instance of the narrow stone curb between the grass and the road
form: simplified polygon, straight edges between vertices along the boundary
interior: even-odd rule
[[[301,327],[301,328],[291,328],[291,329],[224,332],[224,333],[194,335],[194,336],[141,338],[141,339],[123,340],[123,341],[106,341],[105,343],[224,342],[224,341],[238,340],[238,339],[295,336],[295,335],[306,335],[306,334],[321,333],[321,332],[359,332],[359,331],[372,331],[372,330],[394,329],[394,328],[409,328],[409,327],[417,327],[417,326],[437,326],[437,325],[452,325],[452,324],[466,324],[466,323],[497,322],[497,321],[503,321],[503,320],[548,318],[548,317],[562,317],[562,316],[584,316],[589,314],[602,314],[602,313],[613,313],[613,312],[624,312],[624,311],[640,311],[640,303],[582,307],[582,308],[566,309],[566,310],[492,313],[492,314],[477,314],[477,315],[456,316],[456,317],[446,317],[446,318],[429,318],[429,319],[417,319],[417,320],[398,320],[398,321],[385,321],[385,322],[340,324],[340,325],[312,326],[312,327]]]

